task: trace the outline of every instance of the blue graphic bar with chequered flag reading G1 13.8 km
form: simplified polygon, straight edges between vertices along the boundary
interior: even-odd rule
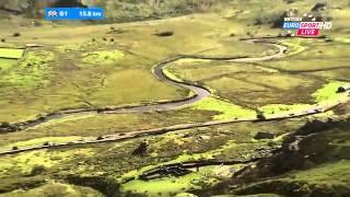
[[[104,20],[102,8],[46,8],[45,19],[55,20]]]

